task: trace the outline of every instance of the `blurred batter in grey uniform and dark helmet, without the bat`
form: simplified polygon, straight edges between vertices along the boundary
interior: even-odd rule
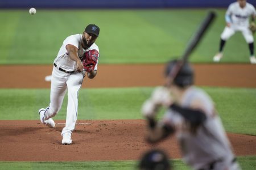
[[[168,63],[166,80],[177,61]],[[170,84],[170,82],[166,82]],[[167,111],[155,121],[160,106]],[[193,86],[192,67],[185,62],[168,87],[158,87],[142,107],[148,122],[147,141],[175,134],[184,162],[193,169],[240,169],[212,99]]]

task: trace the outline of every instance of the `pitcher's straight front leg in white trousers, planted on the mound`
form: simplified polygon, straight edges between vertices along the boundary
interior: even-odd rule
[[[79,90],[82,86],[83,75],[81,73],[71,74],[67,80],[68,87],[68,107],[66,125],[62,130],[63,145],[69,145],[72,143],[71,134],[75,129],[77,113],[78,113],[78,97]]]

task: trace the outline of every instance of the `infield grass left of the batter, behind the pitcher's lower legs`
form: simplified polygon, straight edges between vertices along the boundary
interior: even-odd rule
[[[150,95],[150,88],[81,89],[79,114],[82,119],[141,118],[141,104]],[[49,89],[0,89],[0,120],[37,120],[38,109],[49,104]],[[55,117],[65,120],[67,94],[63,107]]]

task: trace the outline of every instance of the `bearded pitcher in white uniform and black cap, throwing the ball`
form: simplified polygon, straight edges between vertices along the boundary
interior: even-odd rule
[[[47,108],[39,109],[39,115],[43,124],[53,128],[55,122],[52,117],[60,111],[68,91],[66,124],[61,132],[63,145],[72,143],[71,134],[76,125],[82,80],[86,73],[90,79],[97,74],[100,53],[94,42],[99,33],[100,28],[97,25],[89,24],[82,34],[67,37],[53,63],[50,104]]]

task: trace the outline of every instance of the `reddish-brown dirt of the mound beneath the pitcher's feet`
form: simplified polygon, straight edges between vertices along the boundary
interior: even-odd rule
[[[138,160],[151,147],[181,158],[176,138],[151,146],[144,120],[78,121],[72,145],[61,145],[64,121],[48,128],[39,121],[0,121],[1,161]],[[228,133],[236,155],[256,155],[256,137]]]

